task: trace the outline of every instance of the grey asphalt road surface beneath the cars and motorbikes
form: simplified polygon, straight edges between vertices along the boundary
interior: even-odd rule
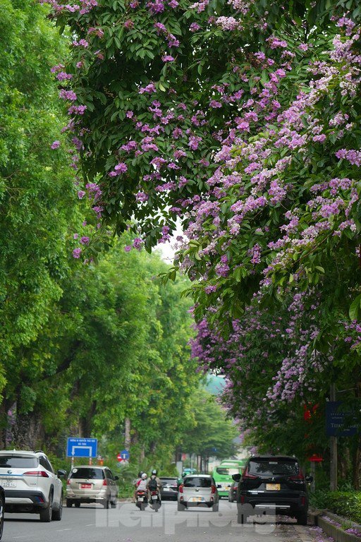
[[[116,509],[100,505],[64,508],[61,522],[40,523],[36,514],[6,514],[1,542],[306,542],[307,527],[285,519],[274,523],[236,522],[236,505],[222,500],[219,512],[208,509],[177,512],[176,502],[164,502],[156,513],[140,512],[131,502]],[[252,520],[252,522],[251,522]]]

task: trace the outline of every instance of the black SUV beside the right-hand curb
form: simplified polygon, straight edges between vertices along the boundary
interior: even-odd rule
[[[237,491],[238,523],[245,523],[252,514],[273,512],[297,519],[307,525],[307,482],[295,457],[286,455],[252,456],[243,474],[233,474],[239,481]]]

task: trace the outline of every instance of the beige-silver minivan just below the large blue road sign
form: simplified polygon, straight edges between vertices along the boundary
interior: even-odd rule
[[[79,508],[82,502],[99,502],[104,508],[115,508],[117,480],[107,466],[74,466],[66,481],[66,506]]]

